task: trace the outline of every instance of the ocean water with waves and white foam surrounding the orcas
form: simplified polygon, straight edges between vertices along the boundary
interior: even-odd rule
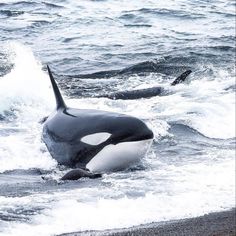
[[[144,120],[136,168],[60,181],[39,120],[66,103]],[[187,69],[184,84],[170,86]],[[163,86],[166,96],[93,98]],[[0,235],[57,235],[235,206],[235,1],[1,0]],[[43,177],[43,178],[42,178]]]

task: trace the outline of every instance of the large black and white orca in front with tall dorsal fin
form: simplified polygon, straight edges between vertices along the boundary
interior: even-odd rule
[[[119,113],[67,107],[49,67],[48,73],[57,107],[44,122],[42,139],[59,164],[78,168],[62,179],[93,178],[95,173],[122,170],[145,156],[153,132],[143,121]]]

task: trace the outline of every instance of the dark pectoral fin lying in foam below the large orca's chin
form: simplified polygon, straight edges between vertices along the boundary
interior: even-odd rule
[[[80,178],[90,178],[90,179],[96,179],[102,177],[101,174],[91,173],[87,170],[83,170],[80,168],[74,169],[66,173],[61,180],[77,180]]]

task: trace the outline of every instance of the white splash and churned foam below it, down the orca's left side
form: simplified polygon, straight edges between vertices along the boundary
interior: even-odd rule
[[[16,118],[0,124],[1,130],[10,132],[0,136],[0,172],[52,168],[55,162],[41,151],[44,146],[38,123],[53,108],[49,79],[29,48],[19,43],[9,43],[7,48],[14,66],[0,78],[0,113],[12,110]],[[16,131],[14,135],[11,130]]]

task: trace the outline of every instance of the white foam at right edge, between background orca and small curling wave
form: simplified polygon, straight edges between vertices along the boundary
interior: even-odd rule
[[[234,86],[235,79],[227,73],[222,76],[170,87],[174,94],[151,100],[153,117],[184,123],[210,138],[234,138],[235,92],[225,89]],[[148,102],[145,106],[151,111]]]

